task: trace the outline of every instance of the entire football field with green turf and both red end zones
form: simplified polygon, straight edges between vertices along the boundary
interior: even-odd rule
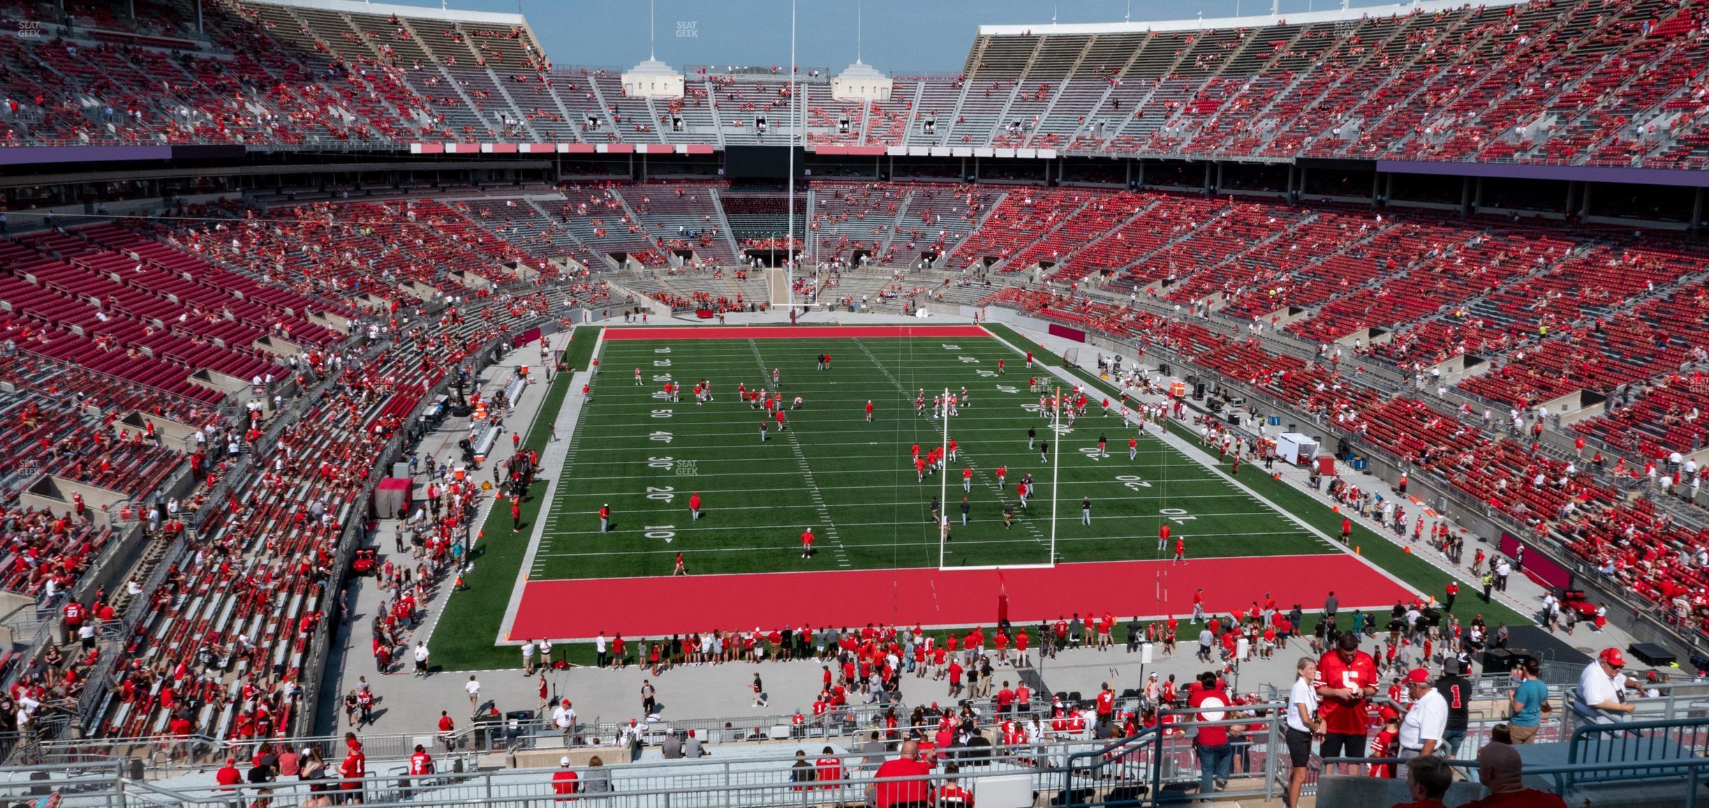
[[[1020,348],[983,328],[607,328],[596,355],[591,398],[564,405],[578,408],[564,465],[555,478],[545,470],[543,507],[526,509],[543,521],[520,526],[531,545],[501,642],[1075,612],[1184,617],[1200,588],[1212,612],[1266,594],[1309,608],[1328,589],[1348,606],[1407,593],[1254,494],[1248,482],[1270,482],[1258,466],[1239,477],[1230,463],[1207,466],[1157,427],[1123,422],[1119,401],[1106,413],[1099,393],[1073,425],[1053,425],[1029,388],[1034,376],[1041,388],[1058,378],[1027,369]],[[692,388],[706,381],[713,396],[696,401]],[[665,384],[677,383],[687,389],[673,400]],[[781,393],[788,429],[742,400],[755,386]],[[945,388],[967,389],[947,422],[930,407]],[[772,425],[766,439],[762,420]],[[921,478],[914,444],[926,454],[948,441],[955,460]],[[1029,477],[1034,494],[1022,506],[1017,489]],[[1172,533],[1166,547],[1162,526]],[[673,576],[678,553],[687,576]]]

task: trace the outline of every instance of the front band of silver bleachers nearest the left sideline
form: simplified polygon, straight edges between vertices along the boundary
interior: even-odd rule
[[[490,234],[443,203],[420,200],[410,208],[419,222],[434,224],[383,229],[374,227],[378,219],[357,220],[350,227],[354,244],[342,244],[376,255],[415,249],[436,256],[431,266],[444,272],[472,268],[475,255],[530,260],[494,246]],[[321,215],[301,208],[289,214],[304,220]],[[426,272],[396,273],[398,265],[385,260],[355,266],[366,266],[367,282],[345,280],[361,289],[398,277],[443,280]],[[583,285],[571,294],[600,297]],[[126,642],[121,673],[126,685],[97,704],[89,719],[92,729],[109,736],[167,731],[173,707],[188,688],[202,688],[195,728],[203,735],[244,738],[287,728],[296,706],[280,694],[289,690],[287,682],[301,683],[309,639],[328,598],[330,565],[338,557],[344,526],[364,518],[357,494],[378,451],[424,389],[480,345],[550,311],[543,292],[480,290],[438,321],[410,318],[396,342],[367,360],[352,355],[345,362],[311,364],[316,378],[337,376],[338,384],[308,401],[277,444],[256,451],[258,466],[267,471],[250,475],[224,502],[205,502],[191,518],[202,550],[169,571],[157,591],[144,594],[149,608],[130,627]],[[393,323],[396,318],[395,311]],[[287,453],[289,463],[275,466],[280,453]],[[179,659],[200,659],[202,649],[215,659],[212,668],[176,668]],[[263,695],[244,699],[246,685]]]

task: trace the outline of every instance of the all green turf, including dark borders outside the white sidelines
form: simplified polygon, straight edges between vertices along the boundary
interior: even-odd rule
[[[1029,340],[1007,326],[990,328],[1010,345],[1022,350],[1029,345]],[[596,337],[598,330],[578,330],[567,350],[567,364],[586,367]],[[943,348],[945,343],[957,348]],[[656,354],[660,348],[670,352]],[[754,355],[755,350],[759,357]],[[819,352],[832,354],[832,371],[820,374],[813,369],[813,357]],[[1037,354],[1039,362],[1061,366],[1058,357]],[[978,362],[964,362],[960,357]],[[981,374],[979,371],[995,372],[996,357],[1008,360],[1005,376]],[[672,362],[668,367],[653,366],[667,359]],[[788,436],[779,439],[772,434],[767,444],[759,444],[757,413],[735,403],[737,383],[769,379],[769,371],[761,372],[762,362],[767,369],[783,369],[786,401],[796,395],[807,400],[807,408],[788,413],[795,442]],[[644,367],[643,388],[632,384],[632,369],[637,364]],[[952,422],[952,437],[964,448],[962,458],[978,471],[971,497],[978,502],[976,524],[971,530],[960,528],[959,511],[950,511],[957,524],[947,553],[948,564],[1042,562],[1046,548],[1039,538],[1048,542],[1049,536],[1049,518],[1044,512],[1049,504],[1049,466],[1041,466],[1037,453],[1025,449],[1025,430],[1029,425],[1039,427],[1041,436],[1048,430],[1042,429],[1042,419],[1022,408],[1027,403],[1036,405],[1037,396],[1027,393],[1029,374],[1020,364],[1020,357],[1007,345],[984,338],[607,342],[595,400],[583,410],[578,432],[571,437],[576,458],[559,471],[566,480],[559,485],[557,502],[545,516],[557,521],[549,526],[542,543],[535,577],[542,577],[540,572],[547,572],[549,577],[668,574],[678,550],[696,572],[937,565],[937,538],[926,524],[926,502],[938,485],[937,480],[918,483],[911,466],[904,463],[914,441],[919,441],[923,449],[935,446],[933,437],[942,429],[942,422],[914,417],[913,393],[921,386],[926,386],[928,393],[942,391],[947,384],[957,389],[966,384],[972,393],[972,407]],[[663,372],[672,372],[673,378],[711,378],[718,400],[704,407],[696,407],[692,395],[684,395],[677,403],[658,401],[653,393],[660,383],[655,383],[653,376]],[[684,372],[687,376],[682,376]],[[1039,371],[1032,374],[1042,376]],[[1090,381],[1104,391],[1102,395],[1114,395],[1114,388],[1097,379]],[[998,384],[1012,386],[1017,393],[1005,393]],[[909,395],[902,395],[902,389]],[[559,376],[540,410],[545,420],[537,419],[525,446],[543,449],[545,424],[557,415],[567,391],[569,376]],[[873,400],[877,410],[872,425],[865,424],[861,413],[866,398]],[[670,410],[670,417],[653,419],[653,410]],[[1130,463],[1126,434],[1107,432],[1111,458],[1092,461],[1080,448],[1095,446],[1097,430],[1114,422],[1114,417],[1106,420],[1094,415],[1068,434],[1061,446],[1060,560],[1155,557],[1154,536],[1159,519],[1164,518],[1157,511],[1162,507],[1179,507],[1188,511],[1179,516],[1193,516],[1174,524],[1178,533],[1188,536],[1193,557],[1330,552],[1330,547],[1316,536],[1301,531],[1179,453],[1166,449],[1155,437],[1142,437],[1140,461]],[[1196,437],[1188,427],[1171,424],[1171,429],[1181,437]],[[653,441],[655,432],[670,432],[670,442]],[[808,478],[800,470],[796,446],[807,468],[812,470],[812,483],[820,492],[829,521],[820,516]],[[648,458],[672,458],[670,468],[653,466],[651,463],[663,461]],[[685,471],[678,465],[685,460],[694,461],[694,475],[678,473]],[[1034,480],[1044,489],[1034,501],[1032,511],[1010,531],[1003,531],[996,523],[998,506],[1003,501],[993,489],[995,480],[990,475],[996,463],[1007,463],[1010,468],[1005,492],[1008,499],[1013,497],[1013,483],[1024,471],[1032,471]],[[602,471],[591,473],[591,468]],[[952,473],[959,475],[959,466],[952,465]],[[1126,482],[1116,480],[1118,475],[1136,475],[1152,485],[1130,489]],[[591,480],[595,477],[602,480]],[[1242,473],[1239,480],[1318,530],[1328,535],[1340,531],[1340,516],[1306,492],[1263,473]],[[950,480],[954,504],[960,502],[959,483],[959,477]],[[672,489],[653,492],[655,497],[668,494],[672,499],[648,499],[648,485]],[[538,480],[523,502],[525,535],[528,524],[540,514],[545,489],[547,480]],[[687,495],[694,490],[706,499],[706,516],[701,524],[687,521]],[[1082,495],[1094,499],[1097,519],[1092,531],[1078,524]],[[600,536],[595,511],[598,502],[605,501],[612,502],[617,530]],[[520,666],[514,647],[492,646],[526,550],[526,543],[509,531],[509,514],[502,511],[494,509],[484,528],[487,540],[477,545],[475,571],[465,576],[470,589],[455,593],[444,606],[441,627],[458,629],[436,630],[432,637],[431,649],[439,668]],[[1239,516],[1212,516],[1232,512]],[[641,530],[667,524],[672,533],[670,542],[648,538],[648,531]],[[836,524],[843,547],[841,559],[829,536],[822,536],[820,553],[812,562],[802,562],[796,536],[807,524],[813,524],[813,533],[825,531],[825,524]],[[735,530],[704,530],[713,526]],[[1441,593],[1449,581],[1448,574],[1432,564],[1403,553],[1400,547],[1364,526],[1354,528],[1354,543],[1360,545],[1367,559],[1418,591]],[[761,548],[733,550],[740,547]],[[567,555],[547,555],[549,552]],[[843,567],[843,560],[849,567]],[[1482,613],[1490,624],[1524,622],[1506,606],[1485,605],[1465,586],[1454,613],[1461,618]],[[1314,624],[1311,618],[1306,622]],[[1116,641],[1123,642],[1125,627],[1118,625],[1116,630],[1119,634]],[[1191,630],[1183,625],[1184,637],[1195,630],[1196,625]],[[571,663],[593,661],[590,644],[561,646],[559,653]]]

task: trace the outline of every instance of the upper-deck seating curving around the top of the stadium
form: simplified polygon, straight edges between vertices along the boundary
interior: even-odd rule
[[[655,102],[624,97],[615,70],[554,68],[526,26],[232,9],[205,9],[205,41],[162,39],[111,14],[82,19],[70,38],[56,19],[32,20],[55,36],[0,41],[0,92],[17,102],[0,137],[781,142],[778,77],[697,72],[684,99]],[[807,143],[1709,166],[1709,79],[1685,67],[1709,56],[1709,10],[1682,0],[988,34],[974,53],[967,75],[901,79],[868,104],[834,101],[827,77],[805,77]]]

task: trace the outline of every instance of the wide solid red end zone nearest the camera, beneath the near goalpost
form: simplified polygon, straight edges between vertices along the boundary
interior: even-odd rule
[[[798,562],[779,548],[786,564]],[[690,559],[692,564],[692,559]],[[820,553],[803,565],[831,564]],[[1089,586],[1104,583],[1107,586]],[[1283,608],[1323,608],[1335,589],[1342,608],[1388,608],[1413,593],[1352,555],[1282,555],[1061,564],[1054,569],[937,571],[868,569],[761,572],[687,577],[596,577],[530,581],[511,637],[593,639],[622,632],[658,637],[704,630],[783,629],[788,625],[866,625],[870,622],[991,625],[996,594],[1008,593],[1019,624],[1075,612],[1113,612],[1121,618],[1193,613],[1193,591],[1205,588],[1207,612],[1244,608],[1265,593]],[[1191,642],[1191,639],[1184,639]]]

